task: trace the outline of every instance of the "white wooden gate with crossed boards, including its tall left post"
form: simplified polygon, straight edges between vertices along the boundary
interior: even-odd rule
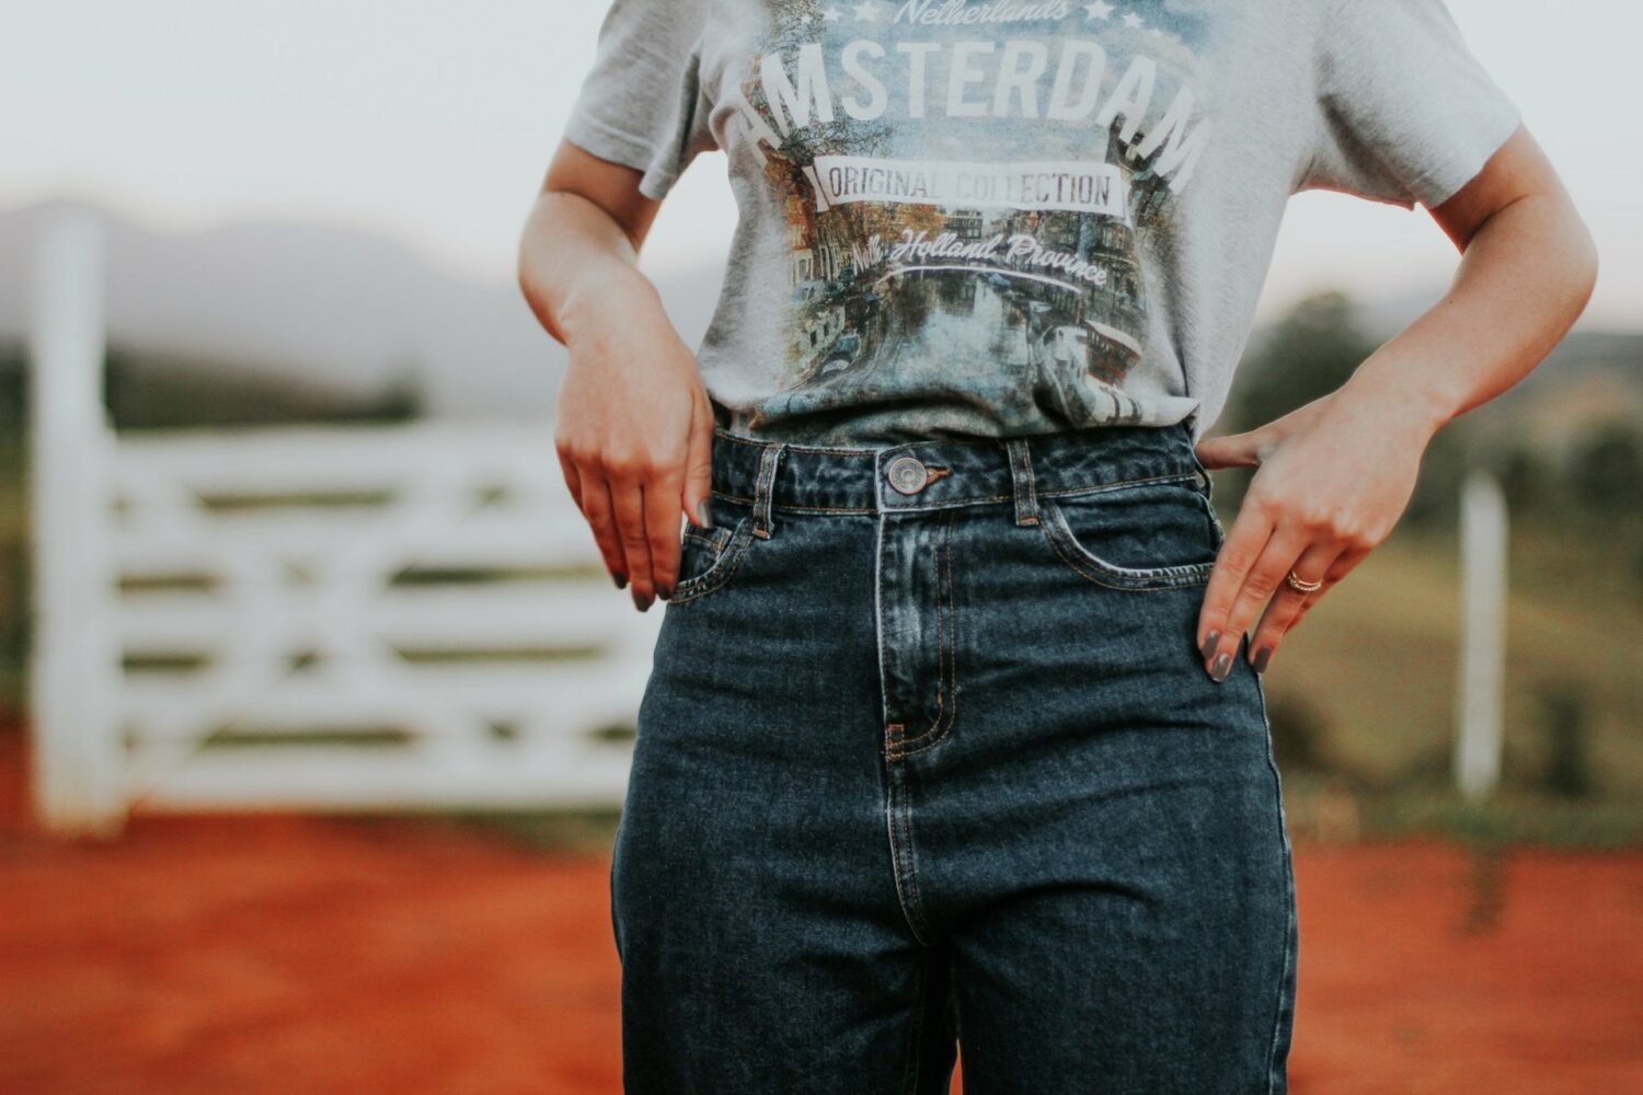
[[[542,424],[115,438],[99,228],[36,263],[36,803],[616,804],[662,606],[618,591]]]

